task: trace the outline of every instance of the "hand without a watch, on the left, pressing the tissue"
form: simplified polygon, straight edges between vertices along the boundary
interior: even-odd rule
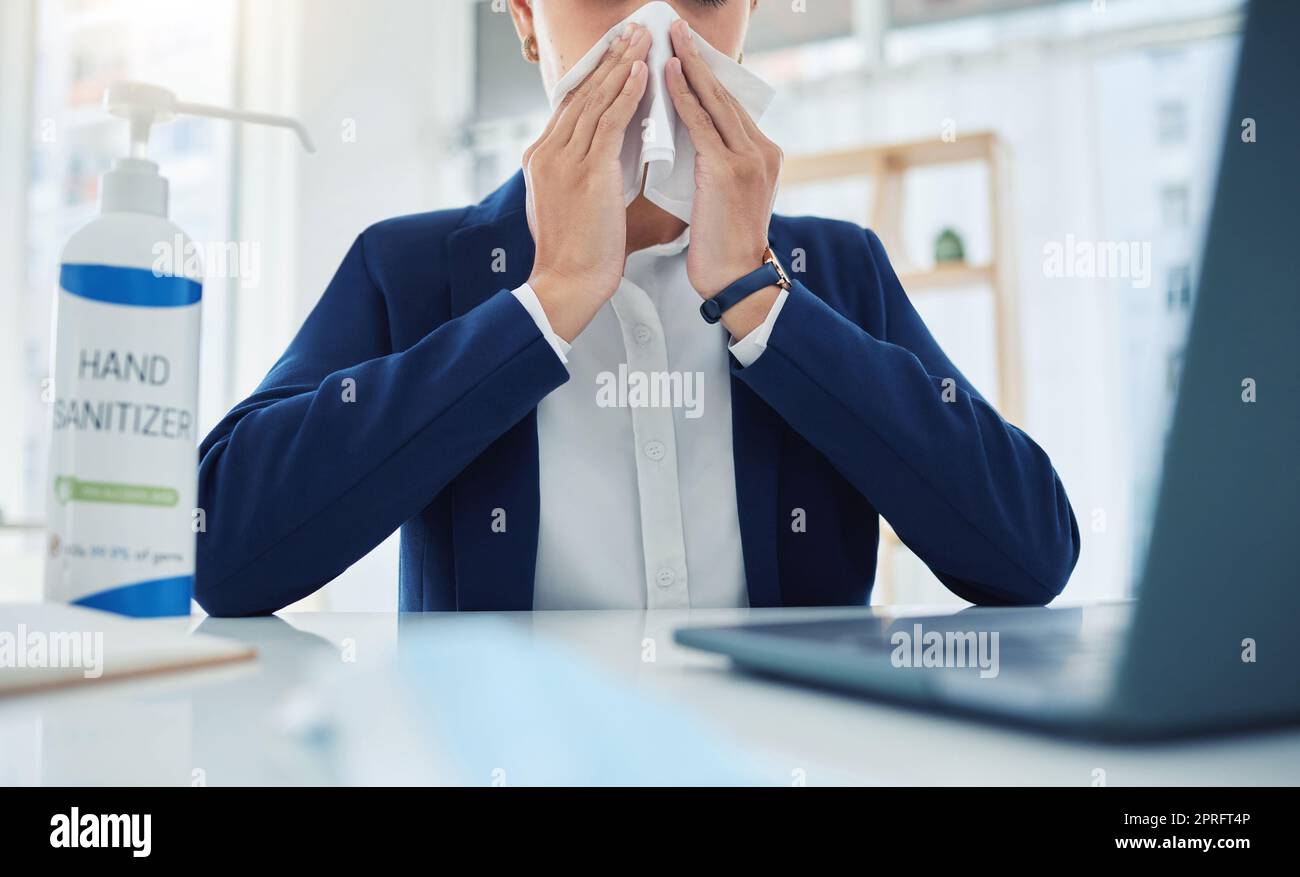
[[[555,333],[572,342],[619,288],[627,214],[619,153],[646,88],[650,32],[632,26],[571,91],[524,152],[533,287]]]

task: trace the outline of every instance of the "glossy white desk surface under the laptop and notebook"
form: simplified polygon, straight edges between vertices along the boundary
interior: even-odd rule
[[[576,655],[619,691],[655,704],[659,712],[651,716],[686,716],[711,739],[746,752],[763,765],[762,782],[1088,786],[1101,769],[1106,785],[1115,786],[1300,785],[1300,730],[1141,746],[1063,741],[734,673],[724,659],[672,642],[673,629],[685,624],[841,613],[538,612],[493,620],[520,634],[515,642],[523,651],[511,660],[530,660],[529,650]],[[0,700],[0,785],[400,780],[391,764],[372,761],[370,755],[385,751],[386,735],[407,720],[399,711],[376,715],[374,703],[364,698],[343,698],[332,708],[341,708],[354,729],[365,729],[361,746],[372,751],[351,750],[346,776],[337,757],[322,757],[318,738],[328,731],[318,726],[321,680],[335,691],[348,690],[334,685],[339,676],[365,686],[367,672],[393,667],[403,639],[482,622],[482,615],[380,613],[148,622],[246,641],[260,657],[239,668]],[[646,721],[653,739],[659,718]]]

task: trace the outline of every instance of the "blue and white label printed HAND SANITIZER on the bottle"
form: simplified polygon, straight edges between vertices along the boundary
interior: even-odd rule
[[[188,615],[203,287],[74,264],[58,286],[46,599]]]

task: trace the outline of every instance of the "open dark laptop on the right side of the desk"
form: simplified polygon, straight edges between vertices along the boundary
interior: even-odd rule
[[[742,670],[1088,737],[1300,721],[1297,35],[1300,4],[1252,4],[1136,600],[864,609],[676,641]]]

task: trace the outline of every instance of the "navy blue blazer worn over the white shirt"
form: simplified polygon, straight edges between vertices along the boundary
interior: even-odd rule
[[[1050,460],[948,360],[876,235],[776,216],[771,244],[803,270],[767,351],[732,360],[750,604],[866,604],[881,515],[967,600],[1060,594],[1079,529]],[[568,379],[510,292],[532,262],[521,174],[474,207],[356,239],[285,355],[200,447],[204,609],[274,612],[398,527],[402,609],[532,608],[536,412]]]

